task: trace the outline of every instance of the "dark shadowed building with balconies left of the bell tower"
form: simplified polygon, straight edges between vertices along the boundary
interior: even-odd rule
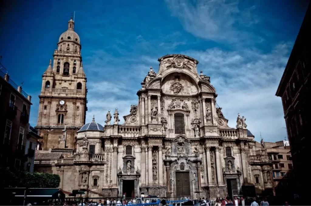
[[[7,73],[0,71],[0,76],[1,167],[33,172],[35,148],[40,137],[29,125],[31,96]]]

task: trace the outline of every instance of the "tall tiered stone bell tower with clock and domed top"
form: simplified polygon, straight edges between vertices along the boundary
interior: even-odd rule
[[[72,17],[67,31],[58,39],[57,49],[42,75],[39,114],[36,129],[43,137],[43,150],[74,148],[77,131],[85,124],[86,75],[81,44],[73,30]]]

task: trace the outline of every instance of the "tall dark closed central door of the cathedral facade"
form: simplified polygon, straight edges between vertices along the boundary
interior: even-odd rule
[[[189,172],[176,172],[176,196],[177,197],[191,196]]]

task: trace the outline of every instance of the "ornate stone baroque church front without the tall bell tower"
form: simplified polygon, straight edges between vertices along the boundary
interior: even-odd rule
[[[36,171],[59,174],[63,190],[85,189],[89,196],[216,199],[255,195],[255,187],[271,191],[264,144],[256,155],[244,116],[238,114],[236,128],[227,125],[210,77],[197,73],[198,61],[180,54],[158,61],[158,73],[150,68],[122,125],[118,108],[108,111],[104,126],[93,117],[77,131],[73,156],[37,151],[45,155],[35,161]]]

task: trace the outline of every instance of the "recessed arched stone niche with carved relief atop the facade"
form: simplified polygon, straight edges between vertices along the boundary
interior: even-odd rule
[[[161,89],[174,95],[194,95],[199,91],[196,81],[183,72],[171,72],[163,77]]]

